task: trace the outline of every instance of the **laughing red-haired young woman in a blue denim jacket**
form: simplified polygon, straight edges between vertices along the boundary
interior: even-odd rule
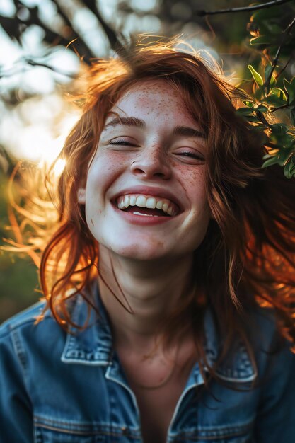
[[[236,100],[173,43],[93,65],[1,443],[295,441],[295,185]]]

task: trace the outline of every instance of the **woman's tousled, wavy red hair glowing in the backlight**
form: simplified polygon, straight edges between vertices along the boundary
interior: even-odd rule
[[[47,308],[66,327],[71,297],[81,293],[88,306],[94,304],[87,294],[98,275],[98,243],[88,230],[78,192],[107,113],[123,93],[146,79],[163,79],[178,91],[206,134],[208,149],[207,199],[213,217],[195,251],[197,292],[178,306],[168,330],[189,309],[196,337],[202,338],[199,320],[209,304],[219,330],[226,331],[226,352],[236,333],[247,340],[244,313],[260,304],[272,306],[279,329],[295,338],[295,180],[284,178],[279,166],[261,168],[261,134],[236,113],[241,93],[221,78],[216,65],[209,69],[197,53],[178,50],[175,42],[139,44],[124,58],[98,61],[91,68],[83,114],[59,156],[66,167],[57,188],[58,229],[40,264]],[[201,338],[197,348],[204,357]]]

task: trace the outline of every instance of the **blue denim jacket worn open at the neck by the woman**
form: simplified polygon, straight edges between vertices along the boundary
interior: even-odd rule
[[[50,313],[35,325],[41,310],[36,304],[0,328],[0,443],[142,442],[137,400],[112,349],[103,306],[86,330],[68,334]],[[83,324],[86,311],[77,297],[73,320]],[[218,368],[221,382],[204,389],[195,364],[166,442],[295,442],[295,357],[287,343],[270,352],[275,328],[267,309],[253,313],[252,323],[257,367],[239,343]],[[204,326],[214,364],[220,343],[209,311]]]

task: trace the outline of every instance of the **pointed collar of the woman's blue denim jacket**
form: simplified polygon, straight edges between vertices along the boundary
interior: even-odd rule
[[[86,364],[95,366],[108,366],[112,363],[112,333],[108,320],[108,313],[98,295],[98,311],[100,316],[91,309],[89,326],[85,330],[70,327],[66,335],[66,343],[62,353],[62,362],[69,364]],[[83,297],[79,296],[74,305],[72,320],[83,326],[88,316],[88,309]],[[204,318],[205,352],[207,362],[213,367],[221,347],[216,333],[212,313],[207,310]],[[197,365],[198,366],[198,365]],[[204,368],[206,371],[206,368]],[[199,372],[199,369],[197,370]],[[236,345],[236,352],[229,359],[219,364],[216,369],[220,379],[233,383],[249,383],[255,380],[257,374],[250,361],[245,343]]]

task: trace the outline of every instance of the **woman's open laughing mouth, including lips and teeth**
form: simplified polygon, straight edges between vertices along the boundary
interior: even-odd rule
[[[179,208],[174,202],[153,195],[127,194],[117,197],[116,206],[125,212],[148,217],[175,217]]]

